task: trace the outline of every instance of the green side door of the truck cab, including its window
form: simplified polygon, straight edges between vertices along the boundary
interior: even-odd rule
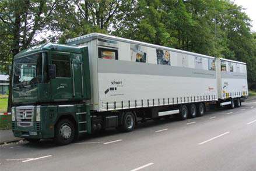
[[[55,65],[56,77],[51,79],[52,101],[68,101],[73,98],[71,54],[51,52],[51,64]]]

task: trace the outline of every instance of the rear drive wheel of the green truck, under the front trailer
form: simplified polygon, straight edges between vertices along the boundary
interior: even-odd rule
[[[121,131],[130,132],[135,127],[135,116],[132,112],[126,112],[122,117]]]

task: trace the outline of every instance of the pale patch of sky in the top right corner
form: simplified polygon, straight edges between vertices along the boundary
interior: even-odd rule
[[[252,20],[251,25],[253,26],[251,28],[251,31],[256,32],[256,1],[255,0],[233,0],[234,3],[237,5],[243,6],[243,8],[246,8],[243,10],[243,12],[247,13],[247,15]]]

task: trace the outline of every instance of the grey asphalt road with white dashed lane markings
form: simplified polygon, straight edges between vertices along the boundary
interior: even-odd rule
[[[58,147],[52,141],[0,147],[0,170],[256,170],[256,101],[203,117],[107,130]]]

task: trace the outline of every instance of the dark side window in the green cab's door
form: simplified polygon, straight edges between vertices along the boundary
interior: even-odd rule
[[[56,66],[56,77],[71,77],[68,55],[52,54],[51,61]]]

